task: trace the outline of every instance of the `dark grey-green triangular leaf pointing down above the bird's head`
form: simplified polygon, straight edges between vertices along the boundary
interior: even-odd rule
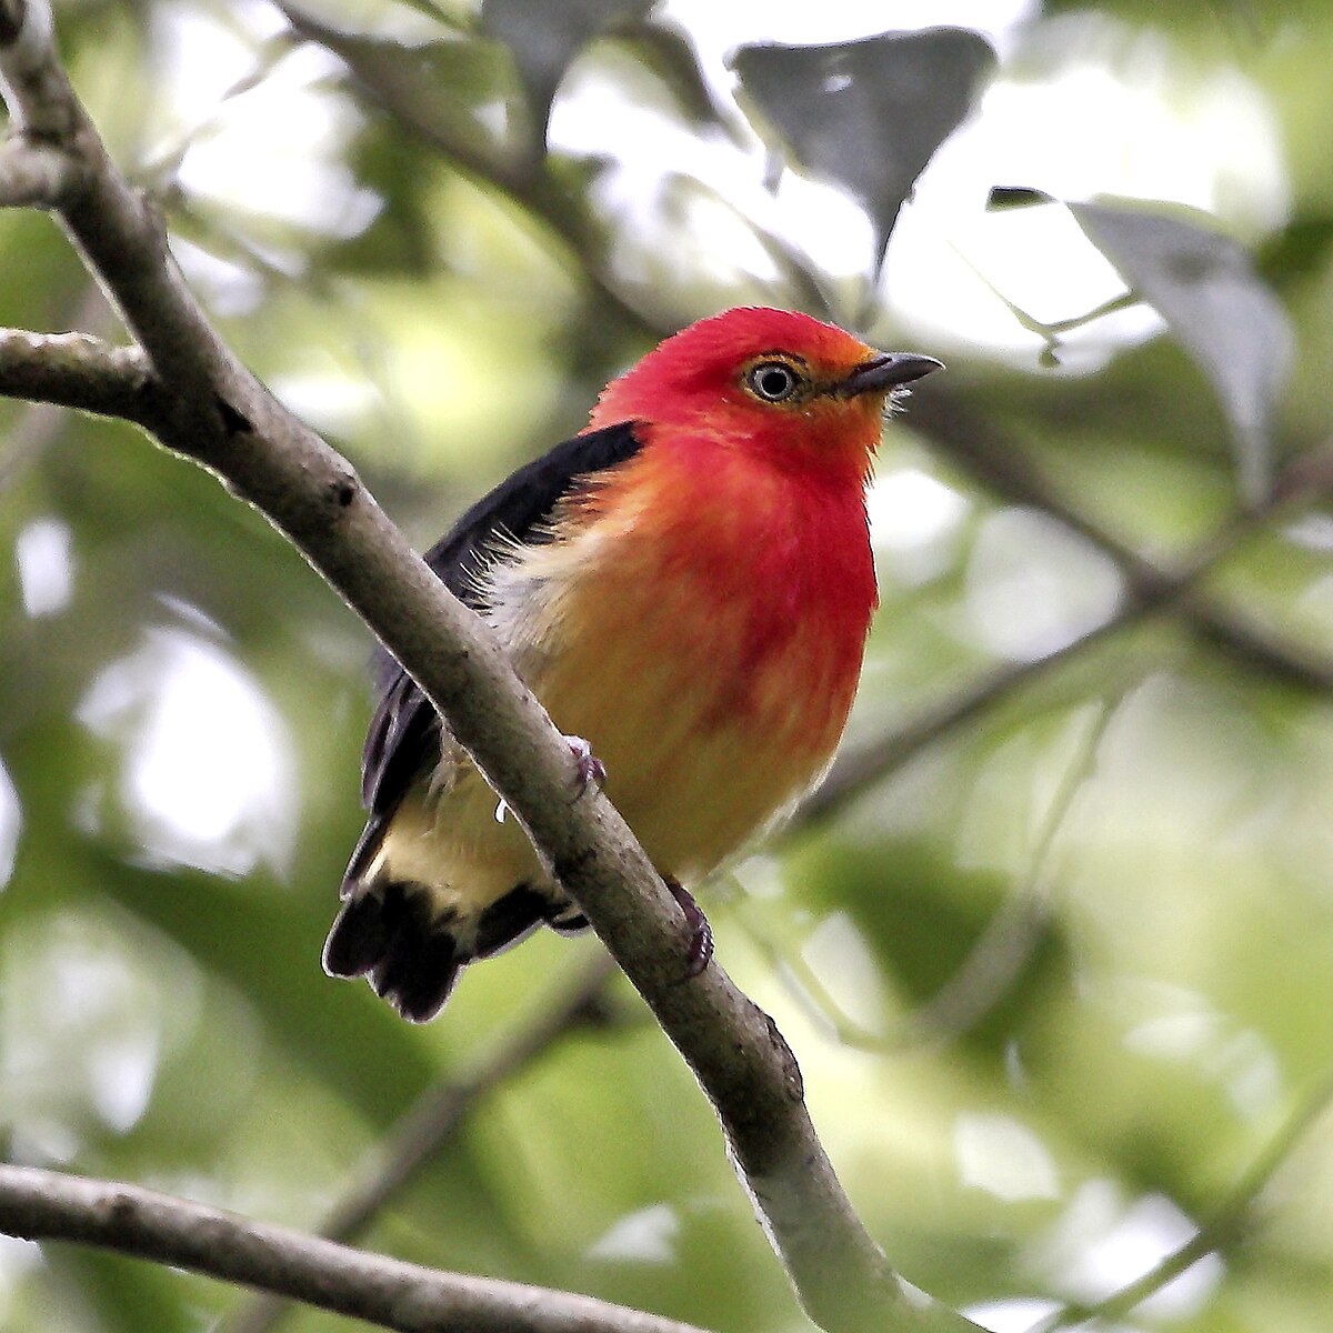
[[[962,28],[741,47],[732,57],[745,97],[792,160],[865,205],[877,264],[917,176],[972,109],[993,64],[989,43]]]

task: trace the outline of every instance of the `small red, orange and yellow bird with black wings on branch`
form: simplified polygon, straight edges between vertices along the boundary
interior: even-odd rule
[[[692,888],[832,761],[877,605],[882,420],[940,364],[794,311],[698,320],[427,552],[676,894],[686,974],[712,953]],[[323,962],[404,1018],[433,1018],[467,964],[536,928],[588,926],[388,655],[361,798]]]

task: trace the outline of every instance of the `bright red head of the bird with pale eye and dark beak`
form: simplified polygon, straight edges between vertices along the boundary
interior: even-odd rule
[[[603,392],[592,427],[641,421],[869,468],[885,400],[938,367],[794,311],[741,307],[666,339]]]

